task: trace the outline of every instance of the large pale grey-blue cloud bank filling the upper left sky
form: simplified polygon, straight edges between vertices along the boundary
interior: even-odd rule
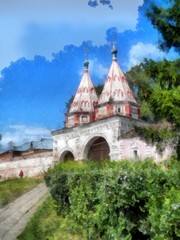
[[[40,54],[51,59],[53,52],[68,44],[79,45],[89,39],[104,44],[105,32],[112,26],[121,32],[135,29],[142,3],[112,0],[111,10],[102,5],[91,8],[88,0],[1,0],[0,70],[20,57],[31,59]],[[31,24],[39,27],[38,37],[34,29],[29,29]]]

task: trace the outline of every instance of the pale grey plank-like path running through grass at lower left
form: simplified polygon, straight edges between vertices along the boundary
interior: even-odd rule
[[[14,202],[1,208],[0,240],[15,240],[47,195],[48,189],[45,183],[41,183]]]

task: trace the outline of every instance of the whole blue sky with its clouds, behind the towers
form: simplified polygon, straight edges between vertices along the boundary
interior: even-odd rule
[[[150,2],[112,0],[111,9],[90,7],[88,0],[1,0],[1,145],[49,137],[63,127],[65,104],[82,76],[84,46],[95,85],[105,81],[113,36],[123,71],[144,57],[176,58],[157,47],[160,36],[145,17]]]

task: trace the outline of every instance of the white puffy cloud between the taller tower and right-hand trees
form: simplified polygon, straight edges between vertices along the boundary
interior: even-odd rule
[[[130,68],[139,64],[144,58],[160,60],[163,57],[165,57],[165,54],[155,45],[151,43],[144,44],[142,42],[138,42],[136,45],[133,45],[129,51],[128,67]]]

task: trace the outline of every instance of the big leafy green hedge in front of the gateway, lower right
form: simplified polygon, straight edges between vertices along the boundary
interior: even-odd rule
[[[173,240],[180,237],[179,164],[61,163],[45,180],[58,213],[82,226],[87,239]]]

